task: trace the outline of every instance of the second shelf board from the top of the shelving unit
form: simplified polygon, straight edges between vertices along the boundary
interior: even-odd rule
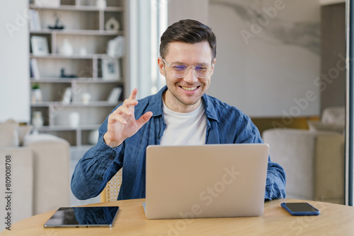
[[[30,30],[31,34],[42,34],[42,35],[97,35],[97,36],[111,36],[111,35],[123,35],[122,30]]]

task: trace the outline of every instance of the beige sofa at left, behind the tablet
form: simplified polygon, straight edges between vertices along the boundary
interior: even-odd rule
[[[69,206],[69,143],[49,134],[28,134],[30,126],[0,124],[0,189],[11,194],[11,224],[23,218]],[[11,164],[6,189],[6,160]],[[7,165],[10,166],[10,165]],[[1,216],[7,200],[1,197]],[[4,228],[1,226],[0,230]]]

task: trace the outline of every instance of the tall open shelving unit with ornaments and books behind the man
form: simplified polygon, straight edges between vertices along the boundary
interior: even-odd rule
[[[103,78],[102,64],[107,54],[108,41],[119,35],[125,36],[125,1],[107,0],[105,8],[95,6],[96,1],[61,0],[59,6],[29,4],[30,9],[38,12],[40,30],[30,30],[30,38],[41,36],[47,39],[49,54],[36,55],[30,47],[29,58],[38,64],[39,78],[31,77],[30,84],[38,84],[42,93],[42,101],[32,102],[31,114],[42,112],[44,125],[37,128],[40,133],[50,133],[65,138],[72,146],[91,146],[89,134],[102,124],[103,120],[120,102],[108,102],[113,88],[121,87],[124,98],[126,85],[125,56],[113,58],[118,60],[120,76],[107,80]],[[51,30],[55,25],[55,16],[64,25],[62,30]],[[105,30],[105,23],[110,18],[118,20],[118,30]],[[64,40],[69,41],[73,54],[67,56],[60,53]],[[30,42],[31,45],[31,42]],[[86,54],[80,54],[84,48]],[[75,75],[76,78],[62,78]],[[71,102],[62,102],[64,91],[72,88]],[[89,93],[89,102],[83,102],[83,95]],[[79,126],[72,127],[69,114],[79,112]]]

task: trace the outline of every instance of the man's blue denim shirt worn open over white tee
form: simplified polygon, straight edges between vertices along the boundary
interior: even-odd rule
[[[99,129],[99,138],[79,160],[72,176],[72,192],[77,199],[90,199],[103,191],[105,184],[122,170],[122,186],[118,200],[145,197],[145,156],[149,145],[159,145],[166,124],[164,122],[162,93],[139,100],[135,106],[135,118],[145,112],[152,112],[152,118],[139,131],[116,148],[110,148],[103,141],[107,131],[108,117]],[[202,96],[207,118],[206,144],[215,143],[263,143],[256,126],[236,107],[212,98]],[[120,105],[118,105],[120,106]],[[117,109],[117,107],[115,107]],[[285,198],[285,172],[280,165],[268,158],[265,199]]]

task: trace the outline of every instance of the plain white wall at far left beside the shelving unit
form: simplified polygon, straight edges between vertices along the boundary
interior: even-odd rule
[[[28,0],[0,8],[0,122],[30,120]]]

